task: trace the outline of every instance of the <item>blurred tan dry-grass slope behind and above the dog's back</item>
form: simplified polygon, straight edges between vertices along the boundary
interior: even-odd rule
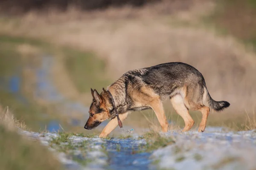
[[[173,17],[179,18],[180,11],[164,17],[124,17],[122,20],[88,16],[84,19],[87,13],[80,14],[80,19],[75,14],[27,14],[16,21],[3,21],[0,33],[95,51],[107,63],[108,75],[113,80],[130,69],[163,62],[186,62],[204,75],[213,99],[231,103],[229,110],[255,107],[256,58],[234,38],[219,37],[202,28],[170,25]],[[32,26],[33,29],[29,29]]]

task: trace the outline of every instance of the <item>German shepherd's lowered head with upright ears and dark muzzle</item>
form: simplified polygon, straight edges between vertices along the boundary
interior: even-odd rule
[[[94,129],[99,126],[103,121],[110,118],[110,113],[107,108],[107,103],[103,97],[107,91],[102,89],[102,93],[99,94],[96,90],[91,89],[91,93],[93,96],[93,102],[90,105],[89,114],[90,117],[84,125],[84,129]]]

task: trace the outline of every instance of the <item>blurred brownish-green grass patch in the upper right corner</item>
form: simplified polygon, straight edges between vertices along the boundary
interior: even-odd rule
[[[224,34],[231,34],[256,50],[256,0],[218,0],[208,22]]]

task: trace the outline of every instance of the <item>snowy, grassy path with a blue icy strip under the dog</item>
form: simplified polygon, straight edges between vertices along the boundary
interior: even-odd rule
[[[136,133],[125,139],[70,133],[20,133],[49,147],[67,170],[256,168],[256,130],[225,132],[223,128],[207,127],[204,133],[160,133],[161,138],[172,139],[172,142],[167,146],[156,144],[156,147],[150,141],[156,140],[152,136],[148,139]]]

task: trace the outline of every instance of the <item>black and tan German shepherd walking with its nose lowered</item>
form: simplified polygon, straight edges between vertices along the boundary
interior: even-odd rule
[[[194,125],[189,109],[201,111],[203,116],[198,131],[204,132],[210,109],[222,111],[230,106],[229,102],[213,100],[203,75],[182,62],[128,71],[108,86],[107,90],[103,88],[101,94],[92,89],[91,93],[93,101],[89,110],[90,117],[84,128],[94,129],[106,119],[111,119],[99,135],[102,138],[108,136],[118,125],[115,107],[121,121],[131,111],[152,109],[163,132],[167,132],[169,125],[162,102],[170,99],[175,111],[184,119],[185,127],[182,132],[190,130]],[[111,101],[111,94],[114,102]]]

